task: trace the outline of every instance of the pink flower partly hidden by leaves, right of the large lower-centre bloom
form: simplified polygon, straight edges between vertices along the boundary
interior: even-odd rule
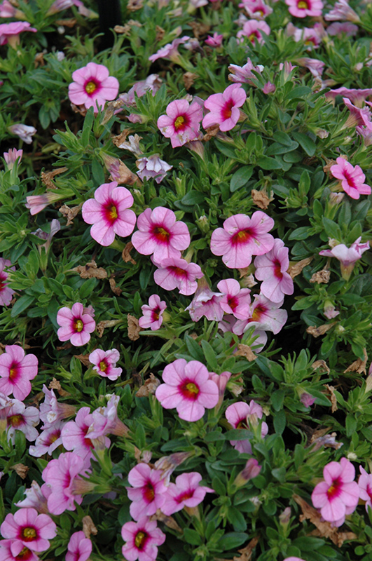
[[[257,424],[257,419],[262,419],[263,411],[261,405],[251,400],[249,405],[245,401],[238,401],[229,405],[226,409],[225,416],[233,428],[252,429]],[[265,421],[261,424],[261,438],[268,433],[268,425]],[[232,445],[238,452],[252,454],[252,446],[249,440],[230,440]]]

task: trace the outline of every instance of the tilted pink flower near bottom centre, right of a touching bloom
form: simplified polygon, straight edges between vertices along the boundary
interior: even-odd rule
[[[197,471],[191,473],[181,473],[176,478],[176,482],[170,483],[167,488],[167,499],[162,506],[162,512],[169,516],[181,511],[184,506],[193,508],[198,506],[207,493],[214,493],[214,489],[199,485],[202,476]]]

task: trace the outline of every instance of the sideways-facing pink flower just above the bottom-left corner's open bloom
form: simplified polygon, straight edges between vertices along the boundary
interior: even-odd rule
[[[74,503],[81,504],[83,497],[76,491],[76,482],[80,480],[78,475],[86,476],[87,473],[83,459],[74,452],[64,452],[58,459],[50,460],[41,476],[51,489],[48,496],[48,511],[51,514],[74,511]]]

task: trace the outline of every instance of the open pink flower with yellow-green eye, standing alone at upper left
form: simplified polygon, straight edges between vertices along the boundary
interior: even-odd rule
[[[102,109],[106,101],[116,98],[119,83],[116,78],[109,76],[109,69],[95,62],[88,62],[83,68],[72,73],[72,82],[69,85],[69,100],[76,105],[85,105]]]

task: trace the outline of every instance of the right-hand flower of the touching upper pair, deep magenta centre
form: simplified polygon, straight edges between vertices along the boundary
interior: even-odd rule
[[[226,132],[235,127],[240,117],[240,109],[247,94],[240,83],[232,83],[223,93],[214,93],[205,100],[204,107],[209,109],[202,120],[204,128],[219,125],[220,130]]]

